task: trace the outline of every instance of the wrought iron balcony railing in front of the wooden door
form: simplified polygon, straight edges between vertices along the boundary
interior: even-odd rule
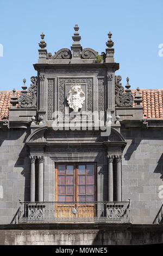
[[[130,222],[128,202],[20,202],[19,223]]]

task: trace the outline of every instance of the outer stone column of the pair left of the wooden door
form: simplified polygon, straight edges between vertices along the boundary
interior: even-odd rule
[[[35,156],[30,158],[30,202],[35,202]]]

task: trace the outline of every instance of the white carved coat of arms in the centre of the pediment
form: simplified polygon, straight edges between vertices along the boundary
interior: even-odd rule
[[[74,112],[78,112],[79,108],[83,107],[85,101],[85,93],[83,92],[80,84],[76,83],[71,86],[67,94],[67,101],[70,108]]]

